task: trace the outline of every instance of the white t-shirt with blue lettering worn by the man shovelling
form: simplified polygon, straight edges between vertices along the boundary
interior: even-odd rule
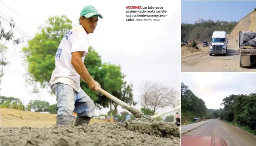
[[[80,75],[71,64],[72,52],[84,52],[84,61],[89,54],[89,37],[82,25],[69,30],[60,42],[55,56],[55,69],[51,74],[50,86],[64,83],[72,86],[75,91],[80,90]]]

